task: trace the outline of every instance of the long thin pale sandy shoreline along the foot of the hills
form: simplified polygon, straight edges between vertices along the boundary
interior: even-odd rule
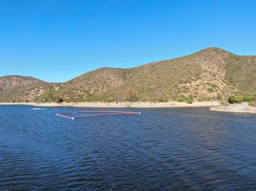
[[[34,105],[34,106],[73,106],[88,108],[171,108],[171,107],[198,107],[198,106],[220,106],[219,102],[195,102],[192,104],[180,102],[150,103],[150,102],[82,102],[82,103],[0,103],[0,105]]]

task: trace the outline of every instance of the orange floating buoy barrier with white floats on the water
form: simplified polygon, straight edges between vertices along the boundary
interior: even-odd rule
[[[88,114],[88,113],[97,113],[92,115],[79,115],[76,117],[71,117],[68,115],[77,115],[77,114]],[[104,113],[104,114],[103,114]],[[129,115],[129,114],[140,114],[140,112],[129,112],[129,111],[73,111],[73,112],[65,112],[61,114],[57,114],[60,117],[69,118],[70,120],[75,120],[78,118],[84,117],[95,117],[95,116],[106,116],[106,115]]]

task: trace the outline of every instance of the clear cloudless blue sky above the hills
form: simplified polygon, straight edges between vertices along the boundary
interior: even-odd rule
[[[256,55],[256,1],[0,1],[0,76],[64,82],[217,46]]]

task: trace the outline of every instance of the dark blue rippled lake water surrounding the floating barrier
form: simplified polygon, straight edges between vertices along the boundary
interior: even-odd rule
[[[256,190],[256,115],[32,108],[0,105],[1,190]]]

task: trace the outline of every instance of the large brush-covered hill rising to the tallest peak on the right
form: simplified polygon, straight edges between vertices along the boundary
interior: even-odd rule
[[[36,102],[191,103],[227,100],[236,92],[256,96],[256,56],[237,56],[211,47],[129,69],[100,68],[51,85],[34,98]],[[6,97],[10,98],[8,93]]]

